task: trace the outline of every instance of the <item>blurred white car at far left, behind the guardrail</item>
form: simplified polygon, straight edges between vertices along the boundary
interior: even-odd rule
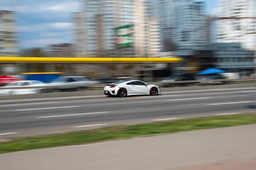
[[[35,88],[36,86],[44,86],[44,82],[40,81],[16,81],[0,87],[0,95],[8,94],[37,94],[40,93],[41,88]],[[30,87],[25,89],[1,89],[1,88],[15,88],[15,87]]]

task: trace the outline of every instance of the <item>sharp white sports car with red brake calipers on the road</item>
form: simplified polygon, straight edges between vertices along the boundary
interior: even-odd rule
[[[105,85],[104,94],[107,96],[131,96],[131,95],[157,95],[161,89],[157,85],[148,85],[139,80],[124,80]]]

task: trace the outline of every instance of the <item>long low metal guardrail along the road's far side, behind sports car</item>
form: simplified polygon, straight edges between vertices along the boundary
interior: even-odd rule
[[[200,82],[246,82],[256,81],[256,78],[244,78],[244,79],[216,79],[216,80],[194,80],[194,81],[173,81],[173,82],[149,82],[148,84],[164,85],[164,84],[186,84],[186,83],[200,83]],[[46,86],[34,86],[34,87],[1,87],[0,90],[6,89],[52,89],[52,88],[102,88],[105,84],[87,84],[87,85],[46,85]]]

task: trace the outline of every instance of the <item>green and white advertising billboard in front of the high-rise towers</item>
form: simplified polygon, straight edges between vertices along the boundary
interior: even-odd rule
[[[117,48],[130,47],[134,45],[133,25],[115,28],[115,41]]]

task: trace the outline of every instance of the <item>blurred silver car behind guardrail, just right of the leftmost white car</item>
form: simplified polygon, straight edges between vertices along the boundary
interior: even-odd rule
[[[44,89],[44,92],[64,92],[64,91],[85,91],[90,81],[83,76],[68,76],[58,77],[48,83],[49,88]],[[75,87],[54,87],[74,85]]]

